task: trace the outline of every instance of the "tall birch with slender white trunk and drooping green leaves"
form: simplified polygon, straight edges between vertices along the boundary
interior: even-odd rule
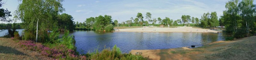
[[[21,21],[28,26],[26,30],[34,30],[36,24],[36,42],[38,37],[38,24],[48,23],[65,9],[62,7],[63,0],[19,0],[16,14]],[[40,21],[40,22],[39,22]]]

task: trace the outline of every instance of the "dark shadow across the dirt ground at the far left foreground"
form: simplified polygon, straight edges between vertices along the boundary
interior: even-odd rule
[[[4,53],[4,54],[15,54],[15,55],[27,55],[24,54],[18,50],[15,50],[11,47],[7,47],[7,46],[0,46],[0,53]]]

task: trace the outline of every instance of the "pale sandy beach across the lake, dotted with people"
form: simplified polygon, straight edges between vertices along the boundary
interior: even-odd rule
[[[143,28],[131,28],[131,29],[117,29],[116,31],[126,32],[209,32],[217,33],[221,30],[210,30],[192,27],[178,27],[178,28],[156,28],[156,27],[143,27]]]

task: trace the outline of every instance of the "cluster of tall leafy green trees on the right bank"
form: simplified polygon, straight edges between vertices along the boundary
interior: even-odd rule
[[[233,37],[249,37],[256,33],[256,5],[254,0],[230,0],[220,18],[220,25]]]

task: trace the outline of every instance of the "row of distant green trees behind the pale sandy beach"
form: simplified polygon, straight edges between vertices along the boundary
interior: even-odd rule
[[[160,25],[170,25],[170,26],[198,26],[198,27],[217,27],[220,25],[220,21],[218,20],[217,13],[214,11],[211,14],[204,13],[202,18],[199,19],[197,17],[191,17],[189,15],[182,15],[180,19],[172,20],[169,17],[165,17],[164,19],[158,17],[158,18],[152,18],[151,13],[146,13],[146,19],[148,21],[143,20],[143,16],[141,13],[138,13],[136,18],[131,17],[130,20],[118,23],[117,20],[114,20],[115,26],[160,26]],[[158,23],[156,23],[158,21]],[[222,25],[222,24],[221,24]]]

